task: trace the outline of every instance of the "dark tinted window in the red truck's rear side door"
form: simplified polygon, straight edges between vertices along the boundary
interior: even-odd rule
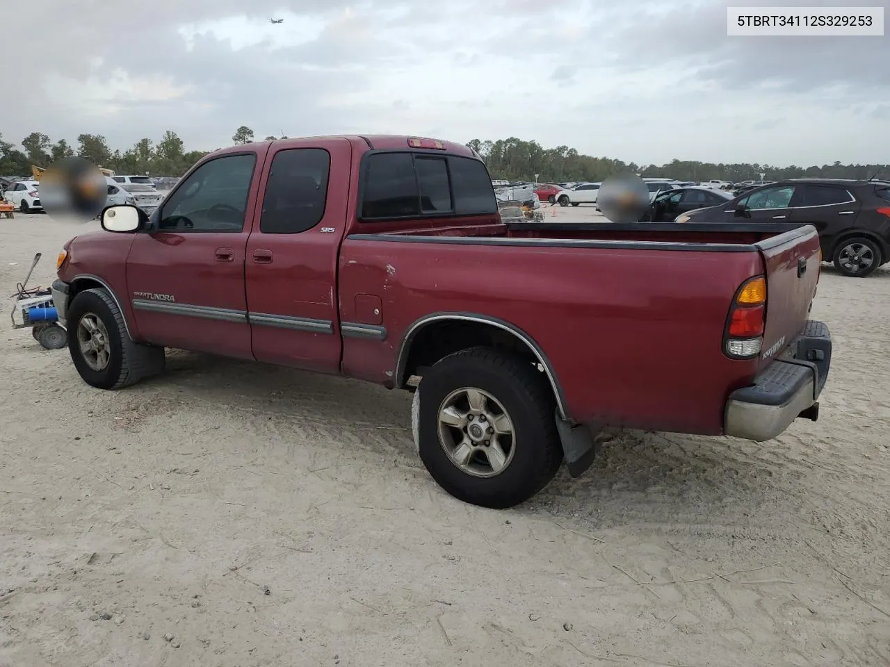
[[[272,158],[260,231],[299,234],[324,217],[331,157],[325,149],[279,150]]]

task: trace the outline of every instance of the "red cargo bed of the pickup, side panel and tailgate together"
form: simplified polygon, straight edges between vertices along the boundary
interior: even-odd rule
[[[384,295],[389,350],[344,343],[346,374],[399,386],[393,358],[413,326],[483,315],[546,350],[565,414],[652,430],[722,432],[726,397],[771,360],[724,355],[733,294],[767,275],[764,349],[779,354],[805,326],[819,270],[816,230],[791,223],[369,227],[344,239],[340,289]],[[350,301],[344,321],[360,317]]]

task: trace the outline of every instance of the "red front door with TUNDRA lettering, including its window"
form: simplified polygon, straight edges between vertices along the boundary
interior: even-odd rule
[[[253,358],[244,260],[263,154],[213,157],[192,171],[137,234],[126,282],[140,338]]]

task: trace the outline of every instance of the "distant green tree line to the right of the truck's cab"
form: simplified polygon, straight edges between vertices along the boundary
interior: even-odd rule
[[[678,181],[781,181],[797,178],[870,179],[878,174],[890,177],[890,165],[775,166],[757,164],[713,164],[674,159],[665,165],[637,165],[611,157],[593,157],[568,146],[545,149],[538,141],[515,137],[498,141],[474,139],[466,144],[478,152],[493,179],[538,182],[603,181],[615,173],[637,173]]]

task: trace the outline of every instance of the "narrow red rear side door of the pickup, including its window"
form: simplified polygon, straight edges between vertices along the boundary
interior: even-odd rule
[[[247,310],[257,361],[323,373],[340,367],[336,267],[352,144],[272,147],[247,239]]]

